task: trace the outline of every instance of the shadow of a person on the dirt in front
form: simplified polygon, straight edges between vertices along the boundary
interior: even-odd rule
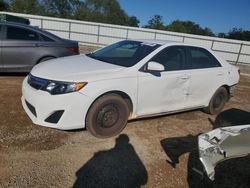
[[[77,172],[74,188],[79,187],[140,187],[148,174],[125,134],[116,138],[115,147],[99,151]]]

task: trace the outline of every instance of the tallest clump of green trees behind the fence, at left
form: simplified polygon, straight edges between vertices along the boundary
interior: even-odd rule
[[[0,0],[0,8],[7,8]],[[8,0],[8,11],[93,22],[139,27],[135,16],[128,16],[118,0]]]

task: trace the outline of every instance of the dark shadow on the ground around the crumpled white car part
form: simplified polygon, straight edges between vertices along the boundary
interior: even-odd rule
[[[221,112],[214,121],[209,119],[213,129],[226,126],[250,124],[250,113],[232,108]],[[199,160],[198,135],[165,138],[161,140],[167,158],[166,162],[175,168],[179,158],[189,153],[187,181],[189,187],[249,187],[250,156],[235,158],[219,163],[215,168],[215,180],[211,181],[204,173]]]

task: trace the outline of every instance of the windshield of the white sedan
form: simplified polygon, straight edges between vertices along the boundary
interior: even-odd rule
[[[87,54],[87,56],[114,65],[131,67],[159,46],[154,43],[125,40]]]

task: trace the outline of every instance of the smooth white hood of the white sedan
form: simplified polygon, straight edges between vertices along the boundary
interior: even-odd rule
[[[50,80],[75,82],[103,79],[104,74],[112,74],[123,69],[125,67],[95,60],[86,55],[76,55],[40,63],[31,70],[31,74]]]

